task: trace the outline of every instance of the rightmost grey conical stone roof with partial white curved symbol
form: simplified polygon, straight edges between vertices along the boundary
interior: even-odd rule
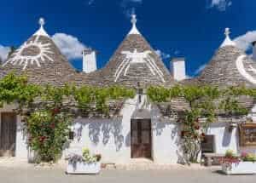
[[[238,49],[236,43],[231,40],[227,42],[226,37],[210,63],[201,72],[198,81],[221,88],[230,86],[254,88],[256,86],[256,63],[241,49]]]

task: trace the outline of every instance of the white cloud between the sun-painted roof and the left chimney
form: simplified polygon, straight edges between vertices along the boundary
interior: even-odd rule
[[[77,37],[65,33],[55,33],[52,39],[68,60],[81,59],[83,49],[87,48]]]

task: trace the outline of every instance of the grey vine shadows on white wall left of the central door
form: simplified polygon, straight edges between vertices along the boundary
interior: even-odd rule
[[[113,136],[116,151],[118,152],[124,143],[127,146],[127,141],[130,141],[130,139],[127,140],[129,134],[126,137],[122,134],[123,124],[119,121],[90,122],[84,124],[88,126],[89,138],[95,145],[102,140],[102,144],[106,146],[111,136]]]

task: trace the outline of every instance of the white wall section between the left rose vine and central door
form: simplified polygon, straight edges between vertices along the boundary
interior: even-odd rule
[[[80,140],[73,140],[66,155],[87,147],[92,153],[101,153],[103,163],[128,163],[131,160],[131,115],[136,104],[137,97],[126,100],[120,112],[121,118],[77,119],[74,127],[76,123],[82,125],[82,136]]]

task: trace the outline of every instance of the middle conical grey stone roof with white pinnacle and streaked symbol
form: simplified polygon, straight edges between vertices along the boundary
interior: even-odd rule
[[[170,85],[175,83],[166,66],[137,30],[136,16],[132,16],[132,29],[119,45],[107,66],[98,71],[103,84],[125,86]],[[95,77],[95,74],[92,75]],[[99,81],[101,82],[101,81]]]

